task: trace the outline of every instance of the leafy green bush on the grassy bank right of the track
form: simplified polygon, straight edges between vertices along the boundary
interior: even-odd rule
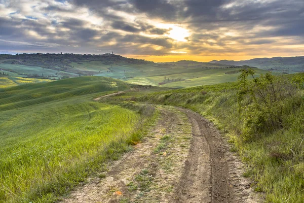
[[[241,70],[238,78],[239,112],[244,119],[244,140],[263,132],[271,133],[283,127],[284,100],[294,97],[296,85],[271,73],[254,77],[252,69]],[[253,80],[247,78],[251,76]]]

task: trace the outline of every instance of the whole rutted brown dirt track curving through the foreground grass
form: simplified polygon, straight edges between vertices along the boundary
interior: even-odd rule
[[[161,112],[142,144],[108,164],[104,179],[89,179],[63,202],[261,202],[209,121],[180,108]]]

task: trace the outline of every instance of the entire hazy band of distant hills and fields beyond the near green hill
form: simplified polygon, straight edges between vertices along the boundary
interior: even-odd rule
[[[184,88],[233,82],[243,66],[189,60],[154,63],[115,54],[19,54],[0,55],[0,71],[9,74],[2,87],[17,85],[11,81],[47,82],[79,76],[102,76],[133,84]],[[258,70],[257,75],[266,73]],[[7,84],[5,84],[7,82]],[[21,83],[21,82],[20,82]],[[0,87],[1,88],[1,87]]]

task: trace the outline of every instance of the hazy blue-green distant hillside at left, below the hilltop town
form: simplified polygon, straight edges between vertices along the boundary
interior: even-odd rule
[[[93,76],[102,71],[115,72],[112,66],[125,69],[133,65],[156,65],[154,62],[126,58],[115,54],[0,54],[0,70],[26,75],[59,79],[61,77]],[[125,67],[125,65],[127,65]],[[105,76],[105,75],[100,75]],[[118,78],[122,75],[112,75]]]

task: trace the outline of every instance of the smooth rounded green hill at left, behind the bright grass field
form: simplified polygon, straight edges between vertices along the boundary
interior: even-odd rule
[[[130,89],[128,83],[104,77],[79,77],[50,83],[21,85],[0,90],[0,111],[63,98]]]

